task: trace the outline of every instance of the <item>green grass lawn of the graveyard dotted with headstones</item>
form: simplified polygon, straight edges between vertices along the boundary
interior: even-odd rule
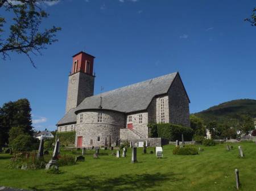
[[[256,145],[254,142],[233,143],[233,150],[224,145],[204,147],[199,155],[173,155],[175,146],[163,147],[162,159],[137,150],[138,163],[131,164],[131,150],[126,158],[115,158],[103,151],[93,159],[92,151],[85,162],[60,167],[60,175],[44,169],[8,169],[10,155],[0,154],[0,185],[28,190],[236,190],[234,169],[240,171],[240,190],[256,190]],[[245,158],[238,158],[241,145]],[[148,148],[147,152],[154,150]],[[71,153],[70,151],[66,151]]]

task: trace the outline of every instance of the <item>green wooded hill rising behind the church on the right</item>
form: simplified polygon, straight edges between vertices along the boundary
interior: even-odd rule
[[[239,99],[227,101],[194,114],[197,117],[203,118],[205,122],[216,121],[222,123],[239,121],[242,114],[247,114],[250,117],[255,118],[256,100]]]

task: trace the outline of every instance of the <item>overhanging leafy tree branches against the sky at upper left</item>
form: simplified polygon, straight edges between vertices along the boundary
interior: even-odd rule
[[[14,15],[8,21],[0,16],[0,54],[3,60],[10,57],[10,52],[16,52],[25,54],[35,67],[31,54],[41,54],[42,49],[57,41],[55,34],[60,31],[60,27],[53,26],[44,31],[40,29],[42,20],[48,17],[47,12],[40,6],[51,1],[56,0],[0,0],[0,10]]]

